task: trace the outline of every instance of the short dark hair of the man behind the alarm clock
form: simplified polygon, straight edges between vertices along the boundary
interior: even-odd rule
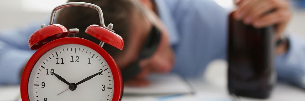
[[[131,33],[131,14],[134,13],[135,6],[131,0],[69,0],[68,2],[87,2],[98,5],[104,16],[105,25],[113,24],[113,30],[124,39],[126,49]],[[100,25],[99,15],[95,9],[86,7],[69,7],[59,11],[56,23],[64,25],[67,29],[77,28],[80,30],[75,37],[88,39],[96,44],[99,40],[85,34],[85,29],[92,24]],[[123,51],[108,44],[103,46],[113,58],[117,58]]]

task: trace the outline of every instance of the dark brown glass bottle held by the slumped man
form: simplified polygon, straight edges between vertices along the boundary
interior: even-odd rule
[[[229,16],[228,90],[236,96],[268,98],[276,82],[274,28],[256,29]]]

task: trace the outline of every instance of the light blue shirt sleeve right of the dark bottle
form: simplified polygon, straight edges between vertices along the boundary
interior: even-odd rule
[[[276,56],[278,80],[305,89],[305,43],[296,36],[289,36],[289,49]]]

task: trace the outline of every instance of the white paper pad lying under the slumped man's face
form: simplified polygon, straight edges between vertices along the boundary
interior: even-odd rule
[[[146,87],[124,87],[124,95],[176,95],[191,94],[193,89],[177,74],[153,74]]]

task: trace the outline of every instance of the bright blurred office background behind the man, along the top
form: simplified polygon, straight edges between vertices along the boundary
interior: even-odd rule
[[[0,0],[0,30],[24,27],[29,24],[48,22],[50,13],[67,0]],[[233,0],[214,0],[224,8],[231,9]],[[305,38],[305,0],[290,0],[294,16],[287,31]]]

